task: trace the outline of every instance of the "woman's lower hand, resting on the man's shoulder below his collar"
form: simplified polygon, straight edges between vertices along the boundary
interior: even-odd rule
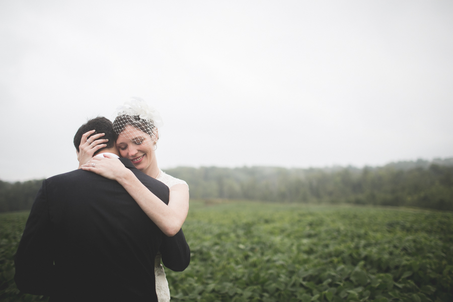
[[[106,154],[104,156],[105,158],[93,157],[88,163],[82,165],[82,169],[116,181],[129,172],[129,169],[124,167],[117,158]]]

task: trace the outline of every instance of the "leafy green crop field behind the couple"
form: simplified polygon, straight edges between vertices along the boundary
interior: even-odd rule
[[[28,213],[0,215],[0,300]],[[173,301],[452,301],[453,213],[191,201]],[[44,298],[45,300],[45,298]]]

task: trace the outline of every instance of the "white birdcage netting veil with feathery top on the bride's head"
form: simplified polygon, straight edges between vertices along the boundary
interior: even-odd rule
[[[131,127],[127,127],[130,125]],[[113,130],[136,143],[147,146],[157,140],[157,130],[163,126],[162,118],[155,108],[141,98],[133,97],[116,109]],[[145,132],[149,135],[142,135]]]

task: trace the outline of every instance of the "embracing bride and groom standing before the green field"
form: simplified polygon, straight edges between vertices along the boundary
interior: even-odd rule
[[[159,113],[138,98],[112,122],[97,117],[74,136],[78,170],[43,181],[16,253],[15,281],[50,301],[169,301],[161,260],[190,262],[181,226],[186,182],[156,161]]]

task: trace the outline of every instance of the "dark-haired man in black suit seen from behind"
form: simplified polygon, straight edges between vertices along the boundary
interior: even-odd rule
[[[112,123],[97,117],[76,137],[96,129],[109,139],[100,153],[118,155]],[[80,133],[79,133],[80,132]],[[119,159],[168,203],[168,187]],[[165,236],[116,181],[82,169],[43,181],[25,226],[15,281],[25,293],[50,301],[157,301],[154,259],[182,271],[190,251],[182,230]]]

